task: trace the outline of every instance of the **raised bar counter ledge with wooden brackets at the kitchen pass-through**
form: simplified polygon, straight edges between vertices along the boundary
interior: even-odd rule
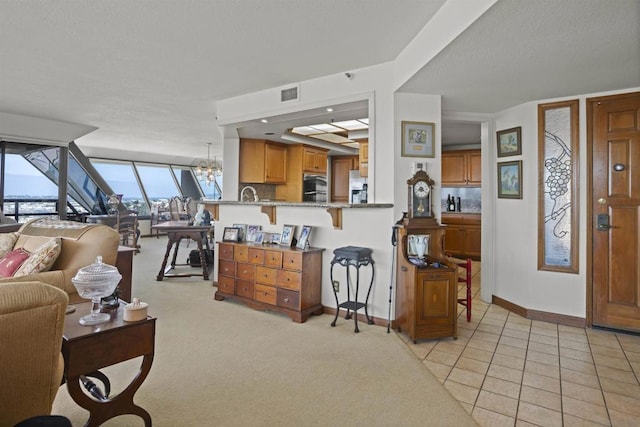
[[[333,227],[342,229],[342,209],[376,209],[392,208],[393,203],[327,203],[327,202],[282,202],[272,200],[262,200],[257,202],[239,202],[234,200],[207,200],[199,201],[205,208],[211,211],[214,221],[218,221],[218,207],[220,205],[246,205],[260,206],[262,213],[269,217],[269,223],[276,223],[276,208],[278,207],[301,207],[301,208],[324,208],[331,215]]]

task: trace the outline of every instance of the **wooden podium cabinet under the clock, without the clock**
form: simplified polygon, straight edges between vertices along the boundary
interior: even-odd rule
[[[418,339],[457,339],[457,268],[442,250],[445,227],[435,219],[404,219],[397,224],[395,327]],[[416,262],[411,236],[428,236],[424,263]],[[411,260],[414,260],[412,262]],[[439,266],[437,266],[439,265]]]

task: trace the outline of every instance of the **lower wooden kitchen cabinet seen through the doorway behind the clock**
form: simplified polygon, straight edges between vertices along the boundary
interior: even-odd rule
[[[453,257],[480,259],[481,217],[479,214],[442,214],[446,225],[444,251]]]

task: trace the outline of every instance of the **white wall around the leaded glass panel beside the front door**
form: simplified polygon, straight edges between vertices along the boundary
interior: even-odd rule
[[[494,199],[494,258],[483,258],[483,267],[491,262],[495,270],[494,295],[522,307],[569,316],[586,316],[587,278],[587,165],[586,99],[596,96],[637,91],[638,88],[540,100],[510,108],[496,115],[496,130],[522,127],[522,156],[497,158],[522,160],[523,199]],[[579,272],[578,274],[538,271],[538,104],[579,99]],[[494,137],[495,138],[495,137]],[[495,141],[495,140],[494,140]],[[494,172],[494,180],[497,180]],[[483,218],[484,219],[484,218]]]

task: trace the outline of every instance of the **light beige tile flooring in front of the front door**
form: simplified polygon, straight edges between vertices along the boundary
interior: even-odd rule
[[[640,337],[528,320],[479,299],[458,339],[400,334],[482,426],[640,426]],[[463,289],[465,288],[465,289]],[[466,292],[461,285],[460,297]]]

